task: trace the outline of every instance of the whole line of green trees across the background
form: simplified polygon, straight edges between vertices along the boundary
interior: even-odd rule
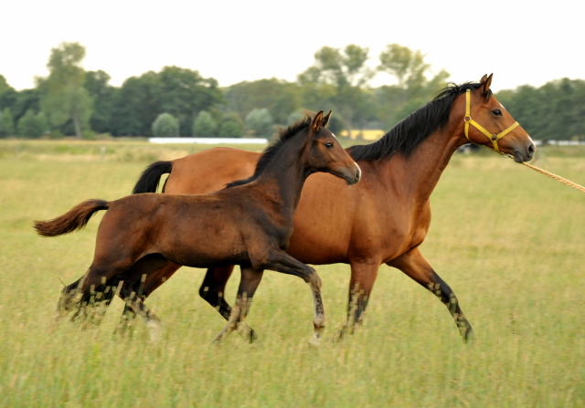
[[[388,130],[431,100],[449,73],[431,75],[420,51],[388,45],[369,68],[368,49],[322,47],[296,81],[268,78],[220,88],[197,70],[165,67],[110,85],[102,71],[81,68],[85,48],[63,43],[48,58],[48,77],[17,91],[0,75],[0,137],[270,136],[304,110],[335,110],[333,131]],[[378,88],[378,72],[395,84]],[[562,78],[497,93],[540,140],[585,139],[585,81]]]

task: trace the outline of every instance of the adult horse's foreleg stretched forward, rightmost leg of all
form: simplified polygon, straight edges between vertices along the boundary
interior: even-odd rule
[[[390,267],[398,267],[406,275],[419,282],[420,285],[429,289],[441,302],[449,309],[457,329],[463,337],[463,341],[471,340],[473,330],[469,321],[465,319],[463,310],[459,306],[459,300],[452,291],[452,288],[437,275],[432,269],[431,265],[420,254],[418,248],[414,248],[409,252],[399,256],[392,262],[389,262]]]

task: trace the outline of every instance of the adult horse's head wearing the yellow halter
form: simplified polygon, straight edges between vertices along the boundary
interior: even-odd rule
[[[457,110],[464,111],[463,134],[473,143],[513,156],[516,162],[527,162],[536,151],[534,142],[495,99],[491,84],[492,75],[484,75],[477,88],[467,89],[459,97]]]

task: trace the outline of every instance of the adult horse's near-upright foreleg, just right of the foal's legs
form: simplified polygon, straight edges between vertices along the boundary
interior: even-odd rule
[[[351,262],[351,279],[347,299],[346,325],[339,333],[342,338],[346,333],[353,334],[356,326],[362,322],[374,282],[378,277],[379,262]]]

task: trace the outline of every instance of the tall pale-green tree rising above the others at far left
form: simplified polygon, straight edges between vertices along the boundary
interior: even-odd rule
[[[78,43],[63,43],[53,48],[48,59],[48,78],[38,80],[41,90],[41,109],[47,112],[50,124],[59,128],[69,120],[75,135],[80,138],[83,129],[89,129],[92,101],[83,88],[85,72],[80,62],[85,48]]]

